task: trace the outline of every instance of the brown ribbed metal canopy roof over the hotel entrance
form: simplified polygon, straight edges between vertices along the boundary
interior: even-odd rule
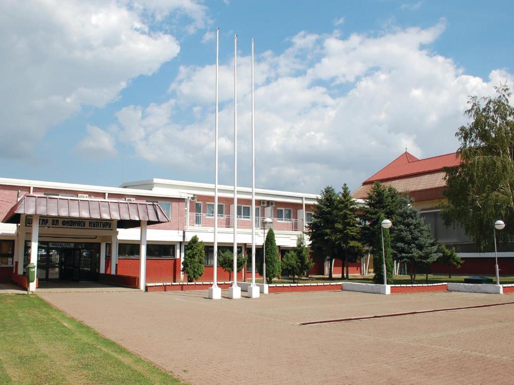
[[[139,227],[140,221],[147,221],[149,225],[170,222],[166,213],[156,202],[126,202],[35,194],[23,196],[12,206],[2,222],[20,223],[22,214],[116,220],[118,228]]]

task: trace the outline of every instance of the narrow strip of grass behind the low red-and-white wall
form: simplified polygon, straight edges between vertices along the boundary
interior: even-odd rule
[[[467,275],[453,275],[451,278],[448,278],[448,275],[445,274],[429,274],[428,275],[428,283],[442,283],[442,282],[455,282],[455,283],[464,283],[464,278],[470,277],[472,274]],[[483,277],[492,278],[493,283],[496,283],[496,277],[492,275],[483,275]],[[298,283],[321,283],[321,282],[342,282],[340,275],[334,277],[332,280],[328,279],[327,276],[310,276],[303,277]],[[247,282],[251,282],[251,279],[247,279]],[[261,279],[255,279],[255,282],[262,283]],[[349,282],[363,282],[363,283],[373,283],[373,275],[350,275]],[[292,279],[273,279],[273,283],[293,283]],[[297,283],[297,282],[295,282]],[[406,275],[396,275],[394,276],[394,284],[397,285],[406,285],[411,283],[410,276]],[[425,283],[425,274],[416,275],[416,283]],[[514,276],[500,276],[501,284],[514,283]]]

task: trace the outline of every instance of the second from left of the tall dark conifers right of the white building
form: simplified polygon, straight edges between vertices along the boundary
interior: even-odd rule
[[[338,254],[343,262],[341,278],[344,278],[344,268],[346,268],[346,279],[349,278],[348,262],[356,262],[357,258],[362,256],[364,251],[364,247],[360,242],[360,226],[356,216],[357,210],[358,206],[345,183],[336,202],[336,223],[332,239],[337,247],[340,248]]]

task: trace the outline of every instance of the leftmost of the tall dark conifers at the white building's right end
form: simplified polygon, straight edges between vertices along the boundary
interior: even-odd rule
[[[313,257],[320,262],[330,262],[330,279],[334,258],[337,257],[337,245],[333,238],[336,232],[336,205],[336,190],[332,186],[326,186],[314,206],[313,220],[307,225]]]

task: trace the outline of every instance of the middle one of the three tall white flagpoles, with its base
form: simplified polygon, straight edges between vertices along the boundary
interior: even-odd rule
[[[234,35],[234,281],[228,290],[232,299],[241,298],[241,287],[237,286],[237,35]]]

